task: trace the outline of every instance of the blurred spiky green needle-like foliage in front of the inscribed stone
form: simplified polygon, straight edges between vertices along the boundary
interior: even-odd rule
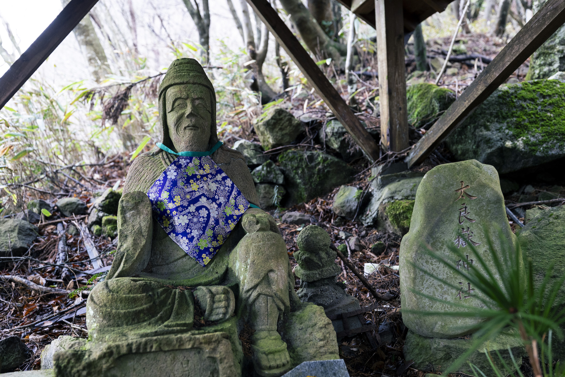
[[[505,237],[503,237],[502,231],[498,231],[502,249],[502,258],[499,258],[496,250],[494,250],[492,237],[489,236],[489,232],[486,231],[486,229],[485,234],[487,235],[488,245],[486,252],[490,253],[492,256],[494,266],[487,265],[481,253],[478,252],[472,244],[467,245],[471,250],[470,252],[463,252],[453,244],[448,244],[447,247],[454,254],[454,257],[447,257],[433,252],[433,250],[428,250],[429,255],[437,259],[437,261],[440,261],[442,265],[449,268],[456,275],[466,279],[465,281],[469,281],[471,286],[474,287],[476,291],[480,292],[480,294],[475,294],[474,297],[484,304],[484,308],[472,307],[457,302],[446,302],[416,291],[415,289],[411,289],[411,292],[414,294],[459,309],[449,312],[413,311],[414,313],[420,315],[446,315],[449,317],[484,319],[484,322],[481,322],[475,329],[475,341],[473,341],[470,349],[460,356],[457,361],[444,372],[445,375],[450,371],[456,370],[467,357],[475,352],[475,350],[479,349],[485,341],[493,339],[493,337],[497,336],[506,327],[515,328],[516,334],[524,341],[527,348],[528,346],[536,347],[536,344],[540,345],[542,364],[551,361],[551,337],[547,337],[549,332],[551,331],[557,334],[560,339],[563,338],[563,331],[560,328],[560,324],[565,322],[565,308],[563,308],[565,298],[556,300],[556,297],[561,285],[565,281],[565,275],[557,279],[557,281],[554,281],[553,284],[548,284],[553,275],[553,266],[547,266],[544,280],[541,284],[536,286],[533,279],[531,259],[528,261],[527,274],[525,277],[523,276],[523,261],[521,260],[520,246],[510,245]],[[466,268],[457,268],[456,262],[458,259],[466,259],[466,254],[475,261],[475,263],[469,265],[468,271]],[[441,281],[447,287],[451,287],[455,290],[459,289],[455,284],[439,278],[414,263],[412,263],[412,266],[423,274]],[[502,286],[497,283],[496,276],[501,278]],[[530,362],[533,365],[536,361],[532,360],[532,354],[529,356],[531,358]],[[551,362],[549,364],[551,365]],[[553,368],[554,366],[550,367],[551,371],[548,372],[548,376],[554,375]]]

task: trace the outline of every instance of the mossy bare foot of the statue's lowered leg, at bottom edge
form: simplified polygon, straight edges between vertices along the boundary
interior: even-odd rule
[[[278,377],[290,370],[290,356],[286,343],[276,331],[256,331],[251,336],[253,364],[257,374]]]

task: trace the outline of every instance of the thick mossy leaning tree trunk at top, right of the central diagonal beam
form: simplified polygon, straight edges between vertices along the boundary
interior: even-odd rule
[[[347,46],[332,41],[300,0],[280,0],[280,2],[290,14],[290,20],[294,23],[308,49],[320,59],[332,58],[336,66],[340,66],[341,54],[347,53]]]

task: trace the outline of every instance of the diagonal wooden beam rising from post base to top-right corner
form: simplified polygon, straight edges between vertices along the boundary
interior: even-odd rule
[[[548,0],[416,143],[406,158],[408,167],[423,162],[453,129],[504,83],[563,23],[565,0]]]

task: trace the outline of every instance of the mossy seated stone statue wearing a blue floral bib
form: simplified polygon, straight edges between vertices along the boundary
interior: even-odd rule
[[[317,326],[325,344],[306,358],[337,358],[323,309],[293,317],[306,304],[294,292],[285,242],[257,207],[243,156],[219,143],[214,88],[196,60],[173,61],[159,88],[159,115],[163,142],[129,169],[114,263],[88,299],[90,339],[224,331],[241,356],[238,333],[249,326],[255,371],[280,376],[302,352],[288,349],[292,341],[278,330],[292,317],[310,320],[306,327]],[[198,310],[205,326],[194,323]]]

